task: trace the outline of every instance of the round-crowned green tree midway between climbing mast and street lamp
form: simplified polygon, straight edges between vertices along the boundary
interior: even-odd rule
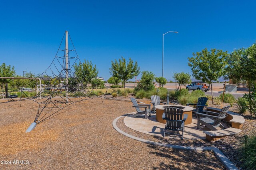
[[[134,78],[140,74],[140,67],[138,67],[137,61],[133,64],[131,58],[129,58],[129,62],[126,63],[126,59],[122,57],[119,59],[119,62],[115,59],[115,61],[111,61],[110,74],[114,77],[118,77],[123,80],[124,88],[126,80]]]

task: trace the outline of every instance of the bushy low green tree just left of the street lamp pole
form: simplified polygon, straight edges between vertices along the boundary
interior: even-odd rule
[[[145,91],[153,90],[155,88],[154,78],[155,78],[155,75],[151,71],[142,71],[141,80],[140,82],[138,82],[134,90],[135,91],[139,91],[141,89]]]

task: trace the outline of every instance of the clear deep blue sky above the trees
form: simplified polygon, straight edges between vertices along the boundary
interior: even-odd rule
[[[141,71],[164,77],[189,72],[188,57],[204,48],[231,52],[256,41],[255,1],[2,1],[0,64],[16,73],[42,73],[52,62],[65,30],[81,61],[110,77],[111,61],[137,61]],[[140,76],[139,76],[140,77]]]

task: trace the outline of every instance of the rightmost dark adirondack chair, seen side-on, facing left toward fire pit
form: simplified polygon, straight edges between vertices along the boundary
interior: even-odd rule
[[[220,127],[221,129],[224,129],[224,126],[220,124],[221,119],[224,119],[226,117],[226,113],[228,112],[228,109],[230,106],[223,107],[220,110],[220,113],[216,113],[213,111],[204,111],[205,113],[199,113],[197,112],[197,129],[200,129],[200,124],[205,125],[212,131],[217,131],[216,127]],[[211,115],[209,115],[211,114]],[[201,118],[201,116],[203,118]]]

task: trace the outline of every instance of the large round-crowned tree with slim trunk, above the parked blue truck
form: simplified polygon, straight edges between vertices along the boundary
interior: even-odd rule
[[[212,89],[212,82],[225,75],[227,51],[203,49],[193,53],[193,57],[188,58],[188,66],[191,67],[194,78],[209,83]],[[212,103],[213,94],[212,94]]]

